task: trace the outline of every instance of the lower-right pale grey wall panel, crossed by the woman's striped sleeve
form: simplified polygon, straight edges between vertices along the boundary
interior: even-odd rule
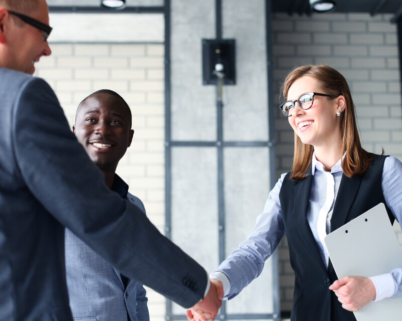
[[[268,148],[226,148],[225,209],[227,255],[238,247],[255,224],[269,193]],[[228,313],[273,313],[271,259],[261,275],[229,300]]]

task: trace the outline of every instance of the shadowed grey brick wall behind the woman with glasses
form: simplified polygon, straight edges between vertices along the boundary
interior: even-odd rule
[[[357,110],[364,148],[402,159],[402,119],[396,26],[390,16],[275,14],[272,27],[274,84],[295,66],[328,64],[348,80]],[[280,97],[281,101],[282,97]],[[279,97],[276,97],[279,102]],[[279,104],[278,104],[279,105]],[[293,132],[279,108],[275,120],[277,177],[293,158]],[[400,231],[395,227],[395,231]],[[398,232],[402,244],[402,233]],[[294,275],[286,239],[279,246],[281,310],[291,309]]]

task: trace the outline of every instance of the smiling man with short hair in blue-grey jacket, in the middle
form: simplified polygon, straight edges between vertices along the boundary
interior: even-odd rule
[[[141,200],[128,193],[129,186],[116,174],[134,134],[126,101],[107,89],[90,94],[78,105],[73,132],[104,175],[106,186],[145,215]],[[65,259],[74,320],[149,321],[142,284],[120,274],[69,229],[65,231]]]

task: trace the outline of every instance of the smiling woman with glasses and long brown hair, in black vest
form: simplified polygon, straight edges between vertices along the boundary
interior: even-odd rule
[[[379,203],[391,222],[402,222],[402,164],[362,148],[349,86],[333,68],[295,68],[282,89],[287,101],[280,109],[294,130],[292,170],[269,193],[248,238],[210,277],[233,298],[286,233],[295,273],[291,320],[356,320],[351,311],[402,295],[402,269],[337,280],[324,237]],[[187,313],[203,318],[196,308]]]

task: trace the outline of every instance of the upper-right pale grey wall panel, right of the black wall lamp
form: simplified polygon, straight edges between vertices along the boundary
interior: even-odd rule
[[[224,0],[223,34],[236,39],[236,85],[224,88],[225,140],[267,140],[265,1]],[[233,23],[236,21],[236,23]]]

